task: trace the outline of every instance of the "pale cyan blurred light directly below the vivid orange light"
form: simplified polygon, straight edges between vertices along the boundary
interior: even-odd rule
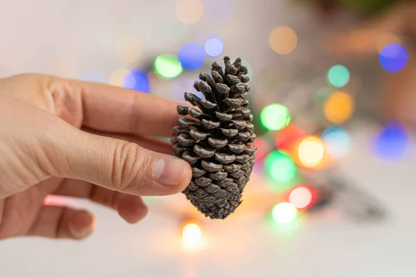
[[[322,132],[321,139],[331,157],[340,159],[348,154],[351,141],[344,127],[340,125],[327,127]]]

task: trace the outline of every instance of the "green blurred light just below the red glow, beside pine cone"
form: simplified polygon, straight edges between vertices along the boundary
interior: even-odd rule
[[[268,176],[278,183],[288,183],[297,175],[295,163],[284,152],[273,151],[268,154],[264,167]]]

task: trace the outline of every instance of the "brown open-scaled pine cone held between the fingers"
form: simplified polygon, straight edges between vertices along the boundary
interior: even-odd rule
[[[193,87],[200,99],[185,93],[199,107],[177,106],[181,117],[173,128],[173,152],[192,167],[192,181],[183,191],[193,206],[211,219],[225,219],[241,204],[241,193],[254,166],[256,139],[252,114],[245,100],[250,86],[247,67],[224,57],[225,72],[214,62],[211,76],[200,73]],[[188,117],[184,117],[188,116]]]

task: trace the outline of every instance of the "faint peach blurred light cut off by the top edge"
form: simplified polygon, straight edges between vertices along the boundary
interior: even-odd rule
[[[176,17],[184,24],[195,24],[204,14],[204,6],[198,0],[179,0],[176,3]]]

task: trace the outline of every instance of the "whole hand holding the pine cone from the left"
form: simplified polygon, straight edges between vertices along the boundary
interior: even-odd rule
[[[81,239],[94,230],[89,212],[45,206],[47,195],[85,197],[135,223],[147,212],[138,195],[186,188],[189,164],[148,139],[171,136],[176,105],[47,75],[0,80],[0,239]]]

